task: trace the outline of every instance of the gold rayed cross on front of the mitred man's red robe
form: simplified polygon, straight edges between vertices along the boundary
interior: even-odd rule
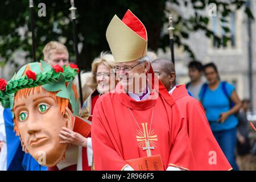
[[[158,140],[158,135],[155,134],[154,129],[148,132],[147,123],[141,123],[141,125],[143,128],[143,133],[142,131],[137,130],[136,138],[139,142],[139,146],[142,147],[142,150],[147,150],[147,156],[151,156],[151,150],[154,150],[156,147],[154,141]],[[152,147],[150,147],[150,144]]]

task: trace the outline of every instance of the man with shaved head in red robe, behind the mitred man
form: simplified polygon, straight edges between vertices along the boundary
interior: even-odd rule
[[[203,106],[189,96],[185,85],[175,84],[174,64],[166,59],[156,59],[151,64],[187,120],[188,136],[196,161],[196,168],[193,170],[232,169],[210,130]]]

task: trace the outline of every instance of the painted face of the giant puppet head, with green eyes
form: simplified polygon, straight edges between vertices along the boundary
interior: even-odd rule
[[[14,114],[20,140],[27,151],[43,166],[55,166],[63,157],[67,144],[60,144],[61,127],[72,129],[72,113],[62,115],[50,92],[31,93],[17,98]],[[44,159],[45,157],[45,159]]]

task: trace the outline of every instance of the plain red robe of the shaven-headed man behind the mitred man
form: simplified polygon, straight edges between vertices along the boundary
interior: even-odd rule
[[[228,160],[210,130],[203,106],[188,95],[185,85],[176,86],[172,98],[187,119],[196,168],[192,170],[230,170]]]

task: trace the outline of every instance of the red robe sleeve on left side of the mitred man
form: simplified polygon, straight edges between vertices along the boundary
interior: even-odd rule
[[[108,119],[111,119],[109,115]],[[123,170],[127,163],[122,158],[121,150],[115,142],[113,131],[99,101],[96,102],[92,120],[92,147],[95,169],[97,171]]]

